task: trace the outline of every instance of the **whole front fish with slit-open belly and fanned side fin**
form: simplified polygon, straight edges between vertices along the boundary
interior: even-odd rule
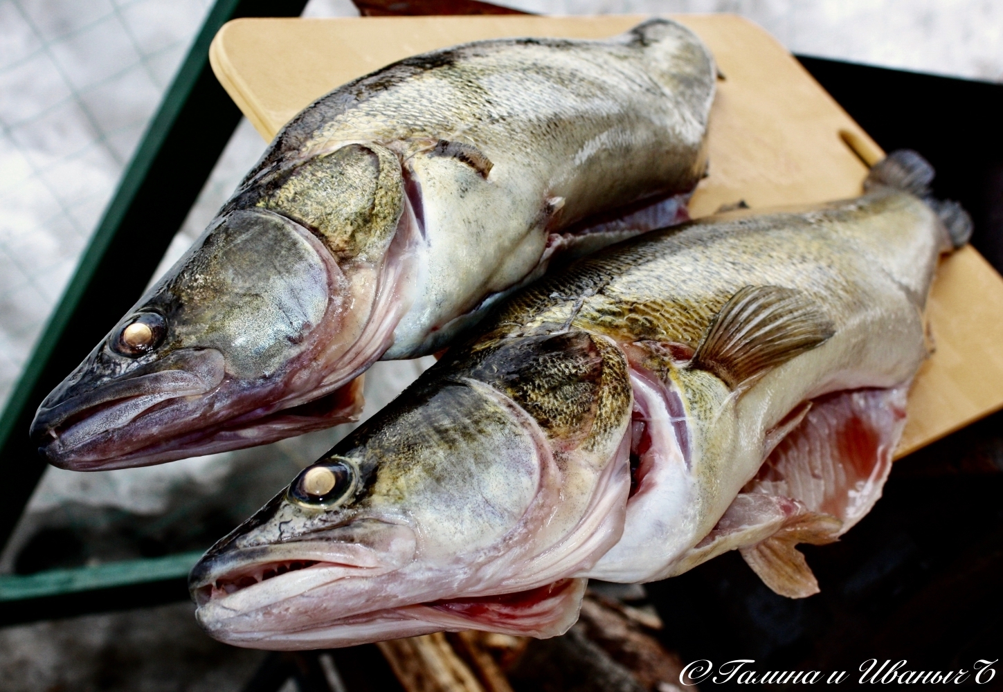
[[[266,649],[546,638],[587,579],[738,550],[773,591],[874,505],[971,220],[894,152],[860,198],[646,234],[498,306],[196,565],[197,618]]]

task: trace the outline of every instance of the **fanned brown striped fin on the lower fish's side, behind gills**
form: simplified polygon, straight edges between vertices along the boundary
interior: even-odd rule
[[[746,286],[714,317],[692,367],[732,389],[825,342],[834,327],[801,291]]]

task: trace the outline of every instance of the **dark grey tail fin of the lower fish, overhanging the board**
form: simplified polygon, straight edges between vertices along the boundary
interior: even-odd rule
[[[931,196],[933,180],[934,166],[926,158],[912,149],[897,149],[875,163],[864,182],[864,190],[895,188],[923,198],[947,228],[951,244],[960,248],[972,237],[972,218],[957,202]]]

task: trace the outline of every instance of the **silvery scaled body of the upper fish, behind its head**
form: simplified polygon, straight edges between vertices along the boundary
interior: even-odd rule
[[[542,269],[551,236],[692,191],[714,83],[704,45],[663,19],[609,41],[499,39],[407,58],[294,118],[225,211],[254,202],[312,221],[329,199],[261,199],[280,171],[352,141],[397,153],[420,199],[425,276],[387,357],[432,353],[453,320]]]

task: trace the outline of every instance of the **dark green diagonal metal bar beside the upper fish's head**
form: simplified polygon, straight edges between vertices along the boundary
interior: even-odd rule
[[[206,17],[0,415],[0,545],[45,468],[27,434],[35,410],[142,293],[240,122],[210,43],[230,19],[296,16],[305,4],[217,0]]]

